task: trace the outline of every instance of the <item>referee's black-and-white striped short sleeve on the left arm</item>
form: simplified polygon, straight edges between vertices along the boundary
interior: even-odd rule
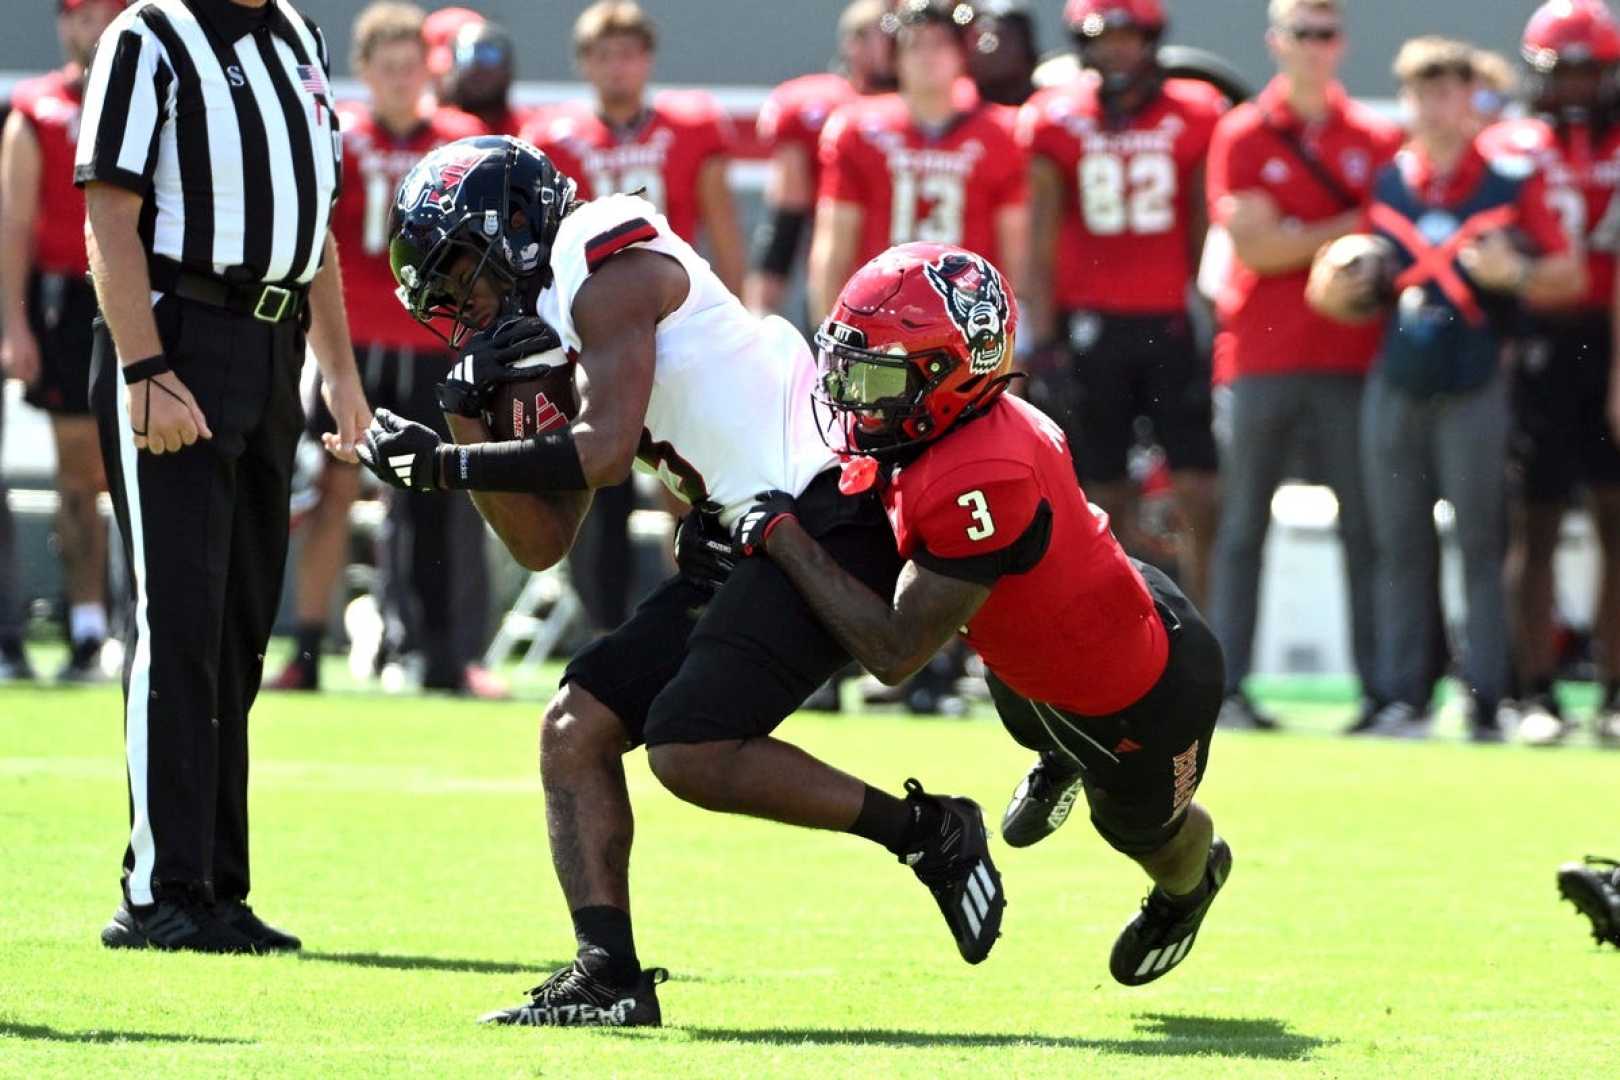
[[[134,193],[151,186],[172,83],[162,47],[139,19],[118,19],[102,34],[84,87],[73,183],[99,180]]]

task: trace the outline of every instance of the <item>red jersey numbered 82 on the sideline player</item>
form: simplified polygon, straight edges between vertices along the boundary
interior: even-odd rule
[[[1226,99],[1207,83],[1168,79],[1111,128],[1097,79],[1042,91],[1019,110],[1019,146],[1063,175],[1059,308],[1150,314],[1187,304],[1191,227],[1200,168]]]

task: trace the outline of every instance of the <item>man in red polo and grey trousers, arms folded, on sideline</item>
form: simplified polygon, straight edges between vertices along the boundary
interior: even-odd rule
[[[1372,178],[1401,136],[1336,81],[1341,15],[1338,0],[1272,0],[1267,44],[1278,76],[1220,120],[1209,152],[1210,220],[1225,225],[1234,253],[1217,298],[1215,381],[1230,393],[1218,395],[1225,499],[1210,581],[1210,623],[1226,651],[1221,722],[1231,727],[1275,727],[1243,680],[1272,495],[1301,439],[1338,499],[1356,670],[1364,688],[1375,685],[1359,413],[1382,330],[1328,322],[1306,306],[1304,288],[1317,249],[1359,230]]]

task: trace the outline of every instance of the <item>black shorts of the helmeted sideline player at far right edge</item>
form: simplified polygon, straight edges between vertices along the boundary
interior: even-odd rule
[[[1565,504],[1583,483],[1620,486],[1607,413],[1612,348],[1607,314],[1549,322],[1518,343],[1508,478],[1524,502]]]

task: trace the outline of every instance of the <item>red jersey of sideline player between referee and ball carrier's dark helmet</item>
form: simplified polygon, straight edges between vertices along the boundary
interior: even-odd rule
[[[360,345],[436,350],[434,337],[394,295],[389,212],[400,181],[423,154],[483,134],[483,125],[455,108],[439,108],[399,138],[366,105],[340,104],[337,113],[343,125],[343,193],[332,210],[332,235],[343,261],[350,337]]]

